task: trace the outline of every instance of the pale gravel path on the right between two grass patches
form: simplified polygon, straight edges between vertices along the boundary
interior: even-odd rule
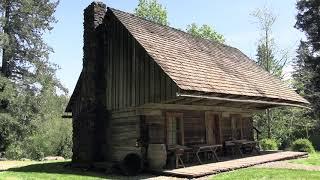
[[[308,171],[320,171],[320,166],[295,164],[288,161],[276,161],[254,166],[255,168],[284,168],[284,169],[302,169]]]

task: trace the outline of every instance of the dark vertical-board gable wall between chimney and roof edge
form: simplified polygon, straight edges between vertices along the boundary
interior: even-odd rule
[[[147,54],[112,12],[106,28],[106,103],[119,110],[174,98],[177,85]]]

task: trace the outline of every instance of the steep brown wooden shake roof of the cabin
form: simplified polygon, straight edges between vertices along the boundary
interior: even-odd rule
[[[309,102],[240,50],[108,8],[181,90]]]

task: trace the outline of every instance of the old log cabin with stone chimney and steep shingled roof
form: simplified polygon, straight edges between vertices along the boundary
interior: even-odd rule
[[[83,69],[66,107],[73,163],[166,164],[159,152],[169,146],[250,140],[252,113],[309,105],[234,47],[101,2],[84,10],[83,38]],[[148,150],[155,145],[158,154]]]

